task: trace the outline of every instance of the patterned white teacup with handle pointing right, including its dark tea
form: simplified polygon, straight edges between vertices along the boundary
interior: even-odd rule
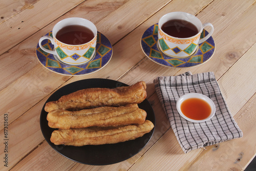
[[[210,32],[202,39],[204,27]],[[158,22],[158,48],[167,56],[186,58],[193,55],[198,45],[206,41],[214,32],[210,23],[202,24],[194,15],[185,12],[171,12],[162,16]]]

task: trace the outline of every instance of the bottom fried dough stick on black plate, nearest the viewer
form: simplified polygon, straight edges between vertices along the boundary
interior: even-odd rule
[[[84,129],[55,130],[51,142],[55,145],[73,146],[114,144],[134,140],[149,133],[154,124],[146,120],[143,124],[120,127],[87,127]]]

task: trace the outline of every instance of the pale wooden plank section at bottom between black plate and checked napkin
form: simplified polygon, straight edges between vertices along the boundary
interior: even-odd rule
[[[202,149],[195,149],[184,155],[169,129],[129,170],[185,170],[201,152]]]

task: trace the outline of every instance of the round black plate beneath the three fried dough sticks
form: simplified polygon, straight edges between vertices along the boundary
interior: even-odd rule
[[[77,90],[87,88],[116,88],[121,86],[128,86],[119,81],[101,78],[84,79],[72,82],[56,92],[54,92],[46,101],[58,100],[61,96],[70,94]],[[90,165],[107,165],[121,162],[129,159],[141,151],[141,149],[150,141],[155,128],[144,136],[135,140],[120,142],[116,144],[104,145],[84,145],[80,147],[68,145],[54,145],[51,141],[51,134],[54,130],[48,126],[46,119],[47,112],[44,110],[45,105],[41,110],[40,127],[46,141],[51,145],[59,154],[67,157],[70,160]],[[145,99],[139,104],[139,108],[146,111],[146,119],[152,121],[155,125],[155,114],[151,104]]]

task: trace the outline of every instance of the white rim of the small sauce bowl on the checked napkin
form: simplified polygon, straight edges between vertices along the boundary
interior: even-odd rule
[[[206,102],[210,105],[210,108],[211,108],[211,113],[210,113],[210,115],[209,115],[207,118],[202,119],[202,120],[194,120],[194,119],[190,119],[190,118],[186,117],[186,116],[181,112],[180,106],[181,106],[181,103],[182,103],[184,100],[189,99],[189,98],[199,98],[199,99],[202,99],[202,100],[206,101]],[[203,95],[203,94],[200,94],[200,93],[188,93],[188,94],[185,94],[185,95],[181,96],[181,97],[179,98],[179,100],[177,101],[177,103],[176,103],[176,108],[177,108],[179,114],[180,114],[183,118],[185,118],[186,120],[188,120],[188,121],[190,121],[190,122],[195,122],[195,123],[205,122],[205,121],[211,119],[212,116],[214,116],[214,115],[215,115],[215,112],[216,112],[216,107],[215,107],[214,102],[213,102],[209,97],[207,97],[207,96],[205,96],[205,95]]]

